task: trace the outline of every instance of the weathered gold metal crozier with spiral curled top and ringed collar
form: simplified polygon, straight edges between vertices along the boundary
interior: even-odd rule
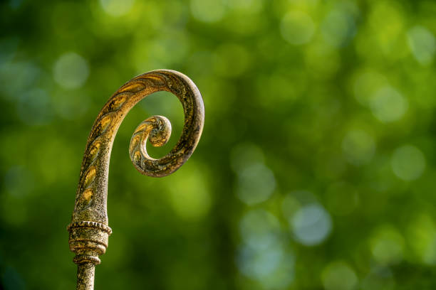
[[[137,102],[153,92],[167,91],[182,102],[185,125],[182,136],[169,154],[152,159],[146,143],[162,146],[170,139],[171,124],[167,118],[145,119],[130,140],[130,159],[137,171],[147,176],[163,177],[177,171],[190,158],[204,123],[202,96],[189,77],[174,70],[154,70],[139,75],[118,89],[95,119],[86,143],[81,166],[76,205],[74,206],[69,244],[78,264],[77,288],[93,289],[95,265],[108,248],[112,230],[108,226],[107,197],[110,152],[115,134],[124,117]]]

